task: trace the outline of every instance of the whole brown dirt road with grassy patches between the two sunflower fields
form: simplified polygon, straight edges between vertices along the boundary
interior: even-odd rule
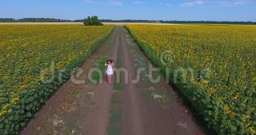
[[[122,75],[118,92],[117,85],[110,86],[105,79],[102,84],[87,81],[90,68],[101,67],[110,58],[128,71],[128,83],[125,74]],[[83,73],[77,78],[85,83],[74,84],[69,80],[61,86],[21,135],[206,134],[189,107],[163,78],[158,83],[149,81],[150,64],[128,31],[117,26],[81,66]],[[139,82],[131,83],[137,75]],[[158,71],[152,74],[154,78],[159,75]]]

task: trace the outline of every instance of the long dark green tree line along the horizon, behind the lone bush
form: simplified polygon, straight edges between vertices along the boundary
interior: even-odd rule
[[[23,19],[12,19],[12,18],[0,18],[0,22],[84,22],[85,19],[78,20],[65,20],[65,19],[53,19],[53,18],[23,18]],[[231,22],[231,21],[163,21],[163,20],[111,20],[101,19],[101,22],[105,23],[196,23],[196,24],[244,24],[244,25],[256,25],[256,22]]]

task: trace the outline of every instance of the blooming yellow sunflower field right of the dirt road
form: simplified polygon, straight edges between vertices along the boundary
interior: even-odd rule
[[[256,26],[126,25],[219,135],[256,134]]]

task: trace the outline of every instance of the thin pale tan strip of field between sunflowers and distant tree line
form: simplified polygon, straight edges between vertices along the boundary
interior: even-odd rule
[[[10,24],[83,24],[83,23],[76,23],[76,22],[64,22],[64,23],[0,23],[0,25],[10,25]],[[148,25],[184,25],[184,24],[169,24],[169,23],[103,23],[106,25],[117,25],[123,26],[126,24],[148,24]]]

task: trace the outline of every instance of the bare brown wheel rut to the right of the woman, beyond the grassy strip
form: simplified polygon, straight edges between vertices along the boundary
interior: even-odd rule
[[[120,29],[121,45],[123,49],[123,67],[128,71],[128,84],[124,84],[124,135],[144,135],[143,116],[141,114],[142,95],[132,84],[132,80],[136,79],[136,70],[131,60],[128,44],[124,37],[124,32]]]

